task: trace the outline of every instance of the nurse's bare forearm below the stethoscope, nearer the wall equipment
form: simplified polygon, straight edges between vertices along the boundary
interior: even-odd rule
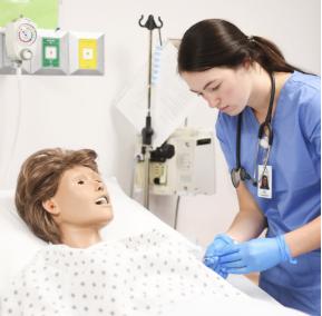
[[[236,192],[240,211],[226,234],[241,243],[258,237],[266,227],[266,220],[257,203],[243,182],[240,184]]]

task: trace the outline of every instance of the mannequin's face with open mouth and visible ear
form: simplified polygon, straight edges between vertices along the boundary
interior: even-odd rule
[[[65,171],[56,195],[42,205],[59,226],[99,229],[113,219],[100,176],[84,166]]]

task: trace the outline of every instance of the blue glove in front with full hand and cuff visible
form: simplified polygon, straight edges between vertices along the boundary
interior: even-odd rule
[[[227,274],[263,271],[286,260],[296,264],[291,257],[284,235],[230,245],[219,254],[219,267]]]

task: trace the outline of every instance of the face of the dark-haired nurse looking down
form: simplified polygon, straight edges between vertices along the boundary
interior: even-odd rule
[[[251,96],[251,76],[246,66],[183,72],[182,77],[189,89],[202,96],[211,108],[230,116],[242,112]]]

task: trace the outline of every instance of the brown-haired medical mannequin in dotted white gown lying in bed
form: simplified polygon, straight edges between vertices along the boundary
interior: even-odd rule
[[[7,287],[1,315],[195,315],[187,304],[201,308],[205,302],[228,314],[236,304],[261,309],[205,267],[201,251],[177,234],[155,227],[101,240],[113,207],[96,157],[90,149],[53,148],[23,162],[16,206],[50,244]]]

